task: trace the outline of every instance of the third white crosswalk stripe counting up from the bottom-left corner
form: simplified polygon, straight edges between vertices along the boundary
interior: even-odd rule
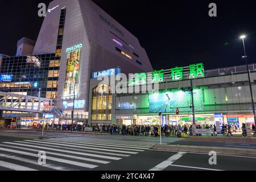
[[[27,155],[27,156],[32,156],[32,157],[38,158],[38,154],[33,154],[33,153],[29,153],[29,152],[11,150],[11,149],[2,148],[2,147],[0,147],[0,150],[1,151],[6,151],[6,152],[12,152],[12,153],[15,153],[15,154],[22,154],[22,155]],[[71,165],[74,165],[74,166],[80,166],[80,167],[90,168],[90,169],[98,167],[98,166],[95,166],[95,165],[92,165],[92,164],[86,164],[86,163],[74,162],[72,160],[53,158],[51,156],[47,156],[47,160],[52,160],[52,161],[55,161],[55,162],[71,164]]]

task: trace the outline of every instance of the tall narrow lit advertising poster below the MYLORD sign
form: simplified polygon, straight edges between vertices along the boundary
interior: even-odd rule
[[[66,77],[65,77],[65,86],[64,86],[64,98],[72,99],[77,96],[79,93],[79,86],[76,85],[76,93],[75,92],[75,84],[79,82],[80,75],[80,59],[81,59],[81,49],[77,49],[76,51],[67,53],[67,69],[66,69]]]

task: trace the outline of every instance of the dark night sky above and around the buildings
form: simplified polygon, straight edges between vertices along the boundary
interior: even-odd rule
[[[1,0],[0,52],[15,55],[16,42],[36,40],[43,18],[38,4],[49,0]],[[246,34],[249,62],[256,63],[255,3],[240,1],[94,0],[137,36],[154,69],[202,62],[206,69],[244,64],[241,34]],[[208,5],[217,4],[217,17]]]

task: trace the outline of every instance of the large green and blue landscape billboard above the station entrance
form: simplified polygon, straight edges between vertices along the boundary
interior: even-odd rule
[[[203,90],[194,89],[195,110],[204,110]],[[192,102],[189,92],[162,92],[149,96],[150,113],[175,113],[178,108],[180,112],[191,112]]]

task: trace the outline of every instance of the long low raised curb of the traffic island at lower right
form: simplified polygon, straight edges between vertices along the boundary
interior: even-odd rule
[[[256,157],[256,150],[243,149],[243,148],[229,148],[229,147],[203,147],[203,146],[180,146],[170,144],[155,144],[152,149],[163,151],[175,151],[175,152],[195,152],[202,154],[209,154],[210,151],[216,152],[216,154],[223,155],[239,155]]]

